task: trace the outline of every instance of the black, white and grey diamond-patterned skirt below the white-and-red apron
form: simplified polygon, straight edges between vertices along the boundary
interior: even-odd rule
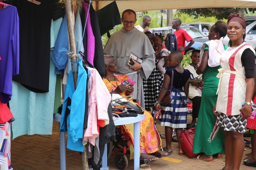
[[[247,120],[241,115],[226,115],[220,112],[217,115],[217,126],[224,127],[224,131],[245,133],[246,122]]]

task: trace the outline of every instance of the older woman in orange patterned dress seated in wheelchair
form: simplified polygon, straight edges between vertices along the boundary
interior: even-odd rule
[[[133,92],[133,87],[127,87],[126,85],[121,84],[121,82],[126,80],[128,76],[113,75],[113,73],[117,71],[117,66],[114,62],[114,58],[110,55],[104,55],[104,61],[105,77],[103,78],[103,82],[109,89],[109,92],[112,92],[113,94],[119,94],[122,97],[127,97],[131,95],[131,93]],[[144,109],[144,116],[145,118],[140,122],[140,159],[147,159],[148,161],[153,161],[157,160],[159,157],[170,155],[170,153],[166,151],[161,151],[158,148],[162,145],[162,141],[156,130],[152,115]],[[128,129],[128,126],[125,126],[125,128],[128,133],[131,133],[131,131]]]

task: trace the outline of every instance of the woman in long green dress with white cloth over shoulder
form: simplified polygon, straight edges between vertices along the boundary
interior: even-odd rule
[[[218,74],[218,69],[221,68],[221,66],[219,66],[220,58],[218,58],[220,54],[218,54],[217,52],[212,52],[211,48],[219,48],[217,44],[222,43],[219,39],[226,35],[227,24],[224,21],[217,21],[211,27],[208,36],[209,40],[211,41],[208,41],[207,43],[205,43],[206,45],[202,46],[200,52],[201,55],[203,53],[202,61],[200,62],[201,64],[196,71],[197,74],[203,73],[204,85],[202,89],[202,101],[196,125],[193,153],[204,153],[203,155],[198,156],[197,159],[209,162],[213,161],[213,156],[216,156],[217,158],[222,158],[222,154],[225,153],[224,134],[222,129],[219,129],[214,140],[209,142],[208,139],[213,131],[217,119],[216,116],[214,116],[212,109],[217,100],[216,91],[218,88],[219,79],[216,77],[216,75]],[[223,47],[224,48],[221,49],[222,51],[227,49],[227,46],[224,45]],[[218,56],[215,56],[215,54],[217,54]]]

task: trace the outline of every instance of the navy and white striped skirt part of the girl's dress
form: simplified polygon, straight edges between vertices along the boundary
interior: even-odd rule
[[[172,88],[172,100],[169,104],[161,105],[161,126],[171,128],[187,127],[187,99],[182,89]]]

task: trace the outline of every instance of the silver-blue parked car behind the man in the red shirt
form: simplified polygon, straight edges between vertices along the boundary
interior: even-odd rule
[[[188,35],[190,35],[194,40],[195,43],[185,51],[185,54],[188,54],[190,52],[192,52],[195,49],[200,49],[203,45],[203,43],[205,43],[206,41],[208,41],[208,36],[203,33],[202,31],[200,31],[199,29],[197,29],[196,27],[193,26],[181,26],[182,29],[184,29],[185,31],[187,31]],[[152,33],[170,33],[170,31],[172,30],[171,27],[161,27],[161,28],[151,28],[150,31]],[[189,43],[187,43],[186,41],[186,46]]]

